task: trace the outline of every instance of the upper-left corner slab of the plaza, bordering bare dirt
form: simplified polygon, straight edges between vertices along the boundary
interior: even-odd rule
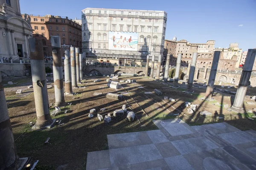
[[[131,147],[144,144],[152,144],[147,132],[119,133],[108,135],[108,148]]]

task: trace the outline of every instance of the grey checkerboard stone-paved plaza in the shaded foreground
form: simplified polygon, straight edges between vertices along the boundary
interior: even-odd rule
[[[159,130],[108,135],[109,150],[89,152],[87,170],[256,169],[256,131],[176,120],[154,120]]]

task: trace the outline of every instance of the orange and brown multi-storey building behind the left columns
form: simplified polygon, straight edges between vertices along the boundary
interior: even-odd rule
[[[24,14],[22,14],[24,18]],[[60,36],[61,45],[78,47],[81,50],[82,36],[81,24],[68,17],[53,15],[30,15],[33,37],[43,42],[44,55],[52,56],[51,36]],[[61,56],[64,57],[64,48],[61,48]]]

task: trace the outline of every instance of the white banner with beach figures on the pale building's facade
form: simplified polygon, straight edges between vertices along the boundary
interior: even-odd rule
[[[108,49],[137,51],[138,33],[136,32],[108,32]]]

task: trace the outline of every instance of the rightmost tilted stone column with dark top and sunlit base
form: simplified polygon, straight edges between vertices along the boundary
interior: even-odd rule
[[[243,108],[244,97],[247,91],[247,87],[249,85],[249,80],[252,73],[255,57],[256,49],[249,49],[244,62],[244,67],[239,81],[239,85],[236,91],[235,101],[231,106],[231,110],[233,111],[241,112],[241,109]]]

